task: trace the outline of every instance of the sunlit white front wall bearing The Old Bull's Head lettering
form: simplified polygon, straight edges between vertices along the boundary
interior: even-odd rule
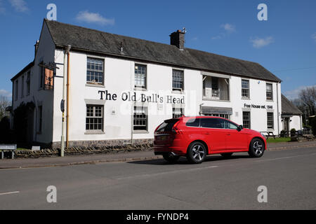
[[[62,63],[63,52],[55,51],[56,61]],[[58,55],[58,56],[57,56]],[[89,55],[91,56],[91,55]],[[91,87],[86,85],[86,59],[87,55],[79,52],[70,53],[70,141],[88,140],[108,140],[108,139],[131,139],[132,102],[121,100],[122,92],[133,92],[134,85],[134,66],[135,62],[126,59],[111,57],[101,57],[105,59],[105,86]],[[142,64],[142,63],[140,63]],[[266,100],[266,82],[262,80],[250,80],[250,99],[242,99],[242,78],[231,76],[230,78],[230,102],[205,101],[202,97],[202,74],[200,71],[190,69],[180,69],[185,75],[185,91],[183,94],[172,92],[172,69],[179,69],[171,66],[158,64],[147,65],[147,90],[136,91],[138,94],[145,93],[173,95],[173,97],[185,97],[185,115],[198,116],[199,105],[228,107],[233,109],[231,120],[242,125],[242,111],[244,104],[256,104],[261,106],[272,106],[272,110],[251,109],[251,129],[260,132],[268,131],[267,112],[272,111],[275,115],[275,134],[278,130],[278,111],[277,111],[277,85],[273,83],[273,101]],[[58,70],[58,75],[62,76],[62,66]],[[86,102],[85,99],[100,99],[99,90],[107,90],[111,94],[117,94],[117,101],[107,101],[105,104],[105,133],[86,134]],[[60,100],[62,99],[62,78],[55,78],[54,94],[54,120],[53,120],[53,141],[60,141],[61,135],[61,112]],[[281,94],[279,90],[279,102]],[[152,139],[155,128],[164,120],[172,118],[172,104],[164,104],[162,111],[158,110],[158,104],[147,103],[149,110],[148,133],[133,134],[133,139]],[[116,111],[112,115],[112,111]],[[279,112],[281,105],[279,104]],[[279,119],[281,124],[281,119]]]

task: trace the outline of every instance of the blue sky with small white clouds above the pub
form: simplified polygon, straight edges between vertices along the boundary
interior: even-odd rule
[[[59,22],[161,43],[186,27],[187,48],[258,62],[283,80],[289,98],[316,85],[315,0],[0,0],[0,94],[11,94],[10,79],[34,59],[48,3]],[[268,21],[257,18],[260,3]]]

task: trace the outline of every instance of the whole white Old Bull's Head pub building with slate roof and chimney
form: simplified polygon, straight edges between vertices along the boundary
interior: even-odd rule
[[[152,143],[155,128],[179,116],[220,116],[279,134],[279,78],[184,44],[180,30],[167,45],[44,20],[34,62],[12,79],[13,113],[29,105],[27,141],[60,147],[64,75],[70,147]]]

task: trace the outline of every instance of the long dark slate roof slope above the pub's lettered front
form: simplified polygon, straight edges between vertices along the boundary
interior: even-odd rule
[[[46,19],[44,22],[46,22],[57,48],[65,48],[67,45],[72,45],[72,50],[95,52],[116,57],[128,57],[147,62],[182,66],[201,71],[226,73],[273,82],[282,81],[256,62],[248,62],[242,59],[215,55],[190,48],[179,50],[174,45],[109,34],[95,29],[77,27]],[[121,54],[121,43],[123,43],[124,48],[123,54]]]

